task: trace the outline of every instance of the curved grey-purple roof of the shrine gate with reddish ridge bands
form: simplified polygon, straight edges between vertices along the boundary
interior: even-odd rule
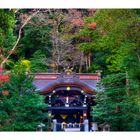
[[[52,87],[56,88],[58,85],[64,86],[82,86],[87,91],[96,91],[97,82],[100,80],[98,74],[85,73],[36,73],[34,75],[33,84],[40,92],[50,92]]]

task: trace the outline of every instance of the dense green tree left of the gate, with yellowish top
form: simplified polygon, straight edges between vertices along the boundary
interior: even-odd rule
[[[0,130],[35,131],[37,125],[47,118],[44,97],[35,91],[32,77],[25,75],[25,65],[18,62],[10,79],[0,94]],[[47,124],[46,124],[47,127]]]

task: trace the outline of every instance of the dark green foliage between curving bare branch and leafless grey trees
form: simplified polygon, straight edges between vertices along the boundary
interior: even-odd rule
[[[31,72],[44,72],[47,71],[46,57],[50,57],[50,26],[41,23],[38,25],[36,20],[33,18],[31,20],[33,24],[29,23],[23,29],[22,38],[13,58],[23,57],[30,60]]]

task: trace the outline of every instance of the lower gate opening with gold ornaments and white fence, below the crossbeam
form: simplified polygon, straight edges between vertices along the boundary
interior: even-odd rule
[[[53,119],[57,120],[56,131],[82,131],[83,130],[83,110],[63,109],[53,110]]]

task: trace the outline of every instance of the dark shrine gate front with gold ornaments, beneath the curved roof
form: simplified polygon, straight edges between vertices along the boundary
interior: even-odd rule
[[[51,114],[51,126],[56,120],[56,131],[66,131],[71,128],[75,131],[84,131],[85,120],[90,123],[90,105],[93,97],[83,93],[80,88],[59,87],[53,91],[51,96],[46,97],[49,103],[48,110]]]

